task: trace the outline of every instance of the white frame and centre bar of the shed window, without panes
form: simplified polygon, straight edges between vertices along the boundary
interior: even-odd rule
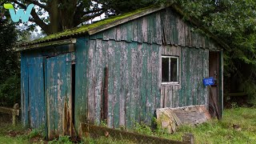
[[[162,58],[169,58],[169,78],[170,78],[170,58],[176,58],[177,59],[177,82],[162,82],[162,76],[161,76],[162,84],[179,85],[179,58],[178,58],[178,56],[162,55],[162,57],[161,57],[161,75],[162,75]]]

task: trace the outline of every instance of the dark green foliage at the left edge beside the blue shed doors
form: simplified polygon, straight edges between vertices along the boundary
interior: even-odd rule
[[[17,34],[14,24],[0,19],[0,106],[20,102],[19,56],[13,50]]]

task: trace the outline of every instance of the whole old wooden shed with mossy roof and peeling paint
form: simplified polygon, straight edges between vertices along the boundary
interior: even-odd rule
[[[196,26],[175,5],[150,6],[18,46],[23,124],[48,138],[81,134],[81,122],[150,124],[157,108],[211,105],[210,76],[222,112],[226,45]]]

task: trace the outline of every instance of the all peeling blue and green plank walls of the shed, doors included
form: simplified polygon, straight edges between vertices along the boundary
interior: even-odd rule
[[[207,104],[208,93],[202,86],[202,78],[209,75],[209,51],[220,50],[220,47],[196,31],[190,23],[166,8],[98,34],[77,38],[75,49],[72,46],[47,46],[24,52],[21,66],[24,125],[39,127],[48,119],[50,136],[70,133],[72,124],[68,126],[70,119],[66,119],[72,115],[70,79],[63,80],[68,83],[62,84],[66,87],[59,90],[59,98],[55,88],[50,88],[58,88],[58,83],[62,83],[55,79],[58,72],[64,73],[71,67],[61,62],[65,58],[51,57],[73,51],[76,130],[81,122],[99,123],[105,118],[110,127],[131,127],[134,122],[150,123],[155,110],[160,107]],[[179,57],[178,85],[162,85],[162,55]],[[47,66],[47,58],[56,65]],[[51,67],[56,70],[50,70]],[[51,78],[47,72],[52,74]],[[65,78],[68,78],[67,74],[70,72]],[[47,84],[51,81],[57,84]],[[34,104],[40,104],[40,108]]]

